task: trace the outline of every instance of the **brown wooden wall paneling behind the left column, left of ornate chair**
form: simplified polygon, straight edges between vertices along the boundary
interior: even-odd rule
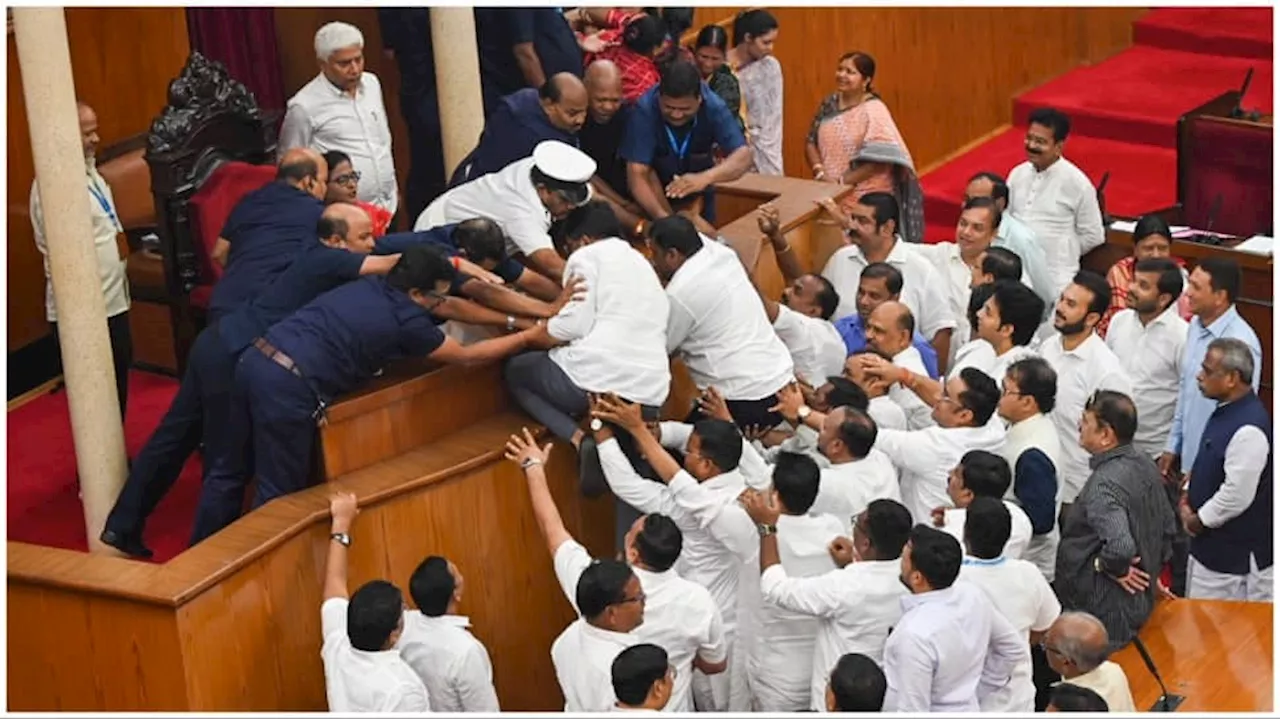
[[[97,110],[101,145],[146,132],[165,105],[169,81],[187,60],[183,8],[67,8],[76,95]],[[45,274],[27,212],[35,168],[22,73],[8,36],[9,351],[49,334]]]

